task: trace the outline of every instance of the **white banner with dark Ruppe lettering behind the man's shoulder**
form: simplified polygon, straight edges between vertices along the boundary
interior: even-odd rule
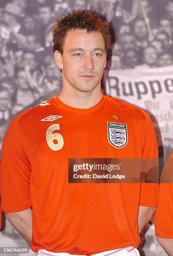
[[[159,127],[162,138],[158,144],[163,143],[164,158],[168,158],[173,151],[173,66],[110,70],[106,93],[153,115],[153,124]]]

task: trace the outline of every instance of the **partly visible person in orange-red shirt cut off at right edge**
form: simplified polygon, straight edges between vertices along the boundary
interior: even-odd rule
[[[158,243],[169,256],[173,256],[173,152],[163,168],[159,204],[154,216],[155,235]]]

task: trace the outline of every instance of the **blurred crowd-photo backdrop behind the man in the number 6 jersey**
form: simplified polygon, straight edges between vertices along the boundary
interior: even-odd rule
[[[0,0],[0,148],[15,115],[60,93],[52,29],[73,8],[96,10],[108,20],[103,93],[149,113],[160,157],[167,159],[173,151],[172,0]],[[150,239],[146,255],[165,255],[153,233]]]

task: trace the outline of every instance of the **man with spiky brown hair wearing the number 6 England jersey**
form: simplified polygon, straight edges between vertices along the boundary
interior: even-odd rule
[[[110,35],[99,15],[68,13],[57,20],[53,43],[63,88],[11,122],[1,159],[2,210],[38,255],[139,255],[138,232],[155,212],[158,185],[68,183],[68,161],[157,159],[151,120],[101,92]],[[139,165],[137,178],[142,171]]]

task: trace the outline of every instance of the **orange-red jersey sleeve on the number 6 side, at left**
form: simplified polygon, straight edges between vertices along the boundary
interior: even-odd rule
[[[31,166],[16,116],[5,133],[0,164],[0,195],[3,212],[18,212],[31,207]]]

